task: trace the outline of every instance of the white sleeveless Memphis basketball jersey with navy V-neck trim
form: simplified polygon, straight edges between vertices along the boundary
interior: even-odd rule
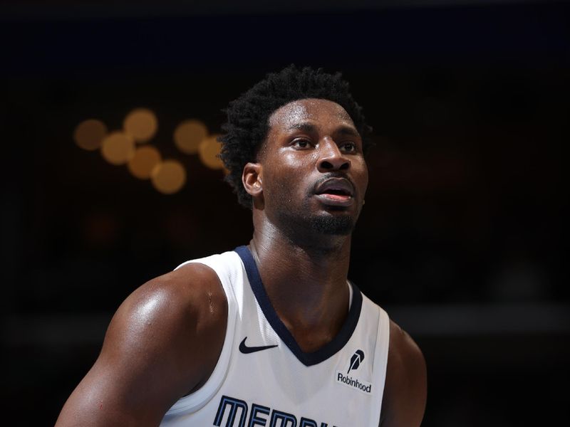
[[[355,285],[341,331],[304,353],[271,306],[246,246],[187,263],[219,276],[227,330],[206,384],[177,401],[161,426],[378,427],[389,320]]]

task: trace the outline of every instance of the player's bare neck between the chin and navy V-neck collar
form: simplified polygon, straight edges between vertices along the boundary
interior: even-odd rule
[[[348,314],[350,236],[294,241],[257,224],[249,248],[271,304],[305,352],[330,342]]]

